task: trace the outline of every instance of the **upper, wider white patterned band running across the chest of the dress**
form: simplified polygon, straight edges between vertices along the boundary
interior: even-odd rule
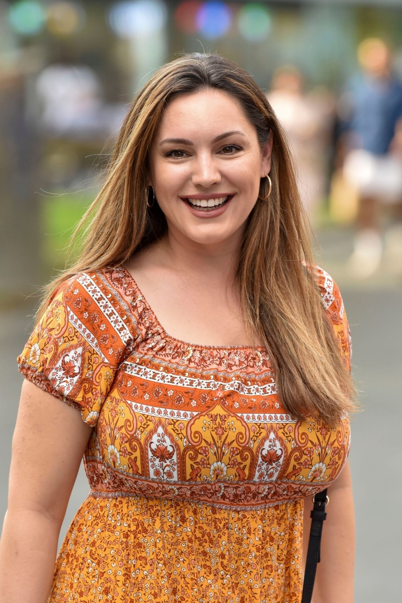
[[[236,391],[242,396],[271,396],[277,394],[275,382],[265,385],[244,385],[239,380],[224,383],[216,379],[200,379],[199,377],[185,377],[172,373],[164,373],[163,371],[155,370],[155,368],[144,367],[135,362],[123,362],[123,370],[126,374],[132,377],[141,377],[147,381],[160,384],[172,385],[172,387],[191,387],[197,390],[213,391],[218,385],[224,391]]]

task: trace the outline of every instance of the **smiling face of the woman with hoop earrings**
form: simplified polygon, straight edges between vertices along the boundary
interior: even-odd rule
[[[271,169],[272,143],[271,133],[261,152],[254,125],[221,90],[173,99],[152,141],[148,182],[169,231],[200,244],[241,235],[257,202],[260,178]],[[217,209],[202,207],[227,197]]]

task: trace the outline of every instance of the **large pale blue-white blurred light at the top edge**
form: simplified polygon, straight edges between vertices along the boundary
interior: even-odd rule
[[[109,24],[122,38],[144,37],[164,28],[167,11],[161,0],[117,2],[110,9]]]

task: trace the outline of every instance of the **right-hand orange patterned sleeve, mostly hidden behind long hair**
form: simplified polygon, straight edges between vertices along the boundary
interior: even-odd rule
[[[338,339],[339,352],[347,370],[351,371],[351,333],[341,292],[335,280],[323,268],[316,267],[317,282],[324,308]]]

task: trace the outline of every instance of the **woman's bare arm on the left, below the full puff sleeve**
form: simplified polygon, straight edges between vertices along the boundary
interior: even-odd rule
[[[78,409],[23,380],[0,540],[2,601],[48,601],[60,526],[91,429]]]

